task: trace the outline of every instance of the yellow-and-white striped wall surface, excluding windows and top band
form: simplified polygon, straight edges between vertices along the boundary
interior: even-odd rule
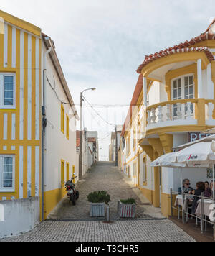
[[[14,73],[16,108],[0,109],[0,155],[15,155],[15,192],[0,201],[39,196],[41,38],[4,22],[0,73]]]

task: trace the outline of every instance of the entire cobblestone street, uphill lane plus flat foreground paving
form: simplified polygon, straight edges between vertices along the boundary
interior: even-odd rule
[[[187,241],[192,239],[172,221],[164,219],[158,209],[149,206],[138,189],[133,188],[125,175],[113,163],[97,163],[77,184],[80,199],[76,206],[67,198],[49,215],[48,221],[39,224],[32,232],[4,241],[77,241],[77,242],[144,242]],[[112,224],[104,219],[90,218],[87,195],[92,191],[108,191],[111,197]],[[119,219],[118,199],[135,198],[136,219]]]

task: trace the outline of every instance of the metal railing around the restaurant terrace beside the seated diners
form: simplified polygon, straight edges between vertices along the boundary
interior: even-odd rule
[[[201,193],[201,196],[194,196],[195,198],[199,198],[199,200],[201,200],[201,202],[199,202],[199,204],[201,204],[201,214],[198,216],[197,214],[192,214],[192,213],[188,212],[188,204],[187,204],[186,209],[183,208],[183,206],[185,205],[185,201],[188,200],[188,199],[186,199],[185,193],[178,193],[178,192],[173,191],[173,189],[171,189],[170,193],[171,193],[171,216],[173,216],[173,209],[178,211],[178,219],[180,219],[180,213],[181,213],[183,223],[185,223],[185,222],[188,223],[188,216],[193,216],[194,219],[196,219],[196,227],[198,227],[198,220],[200,220],[201,233],[204,233],[204,231],[205,232],[207,231],[207,224],[213,225],[214,241],[215,241],[215,221],[208,219],[208,216],[206,216],[206,214],[204,212],[204,201],[205,200],[211,201],[211,211],[214,211],[214,207],[215,207],[214,198],[206,198],[204,196],[204,193]],[[182,205],[178,204],[177,208],[173,206],[173,195],[182,195],[183,203],[182,203]],[[213,217],[215,217],[215,216],[213,215]]]

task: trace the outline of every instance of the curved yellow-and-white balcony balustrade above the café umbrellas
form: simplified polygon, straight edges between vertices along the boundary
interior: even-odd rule
[[[215,125],[214,100],[179,99],[146,109],[146,132],[158,127]]]

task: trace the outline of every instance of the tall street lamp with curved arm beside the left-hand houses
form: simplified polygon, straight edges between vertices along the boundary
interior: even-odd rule
[[[96,88],[89,88],[80,93],[80,149],[79,149],[79,180],[82,180],[82,101],[85,91],[95,91]]]

